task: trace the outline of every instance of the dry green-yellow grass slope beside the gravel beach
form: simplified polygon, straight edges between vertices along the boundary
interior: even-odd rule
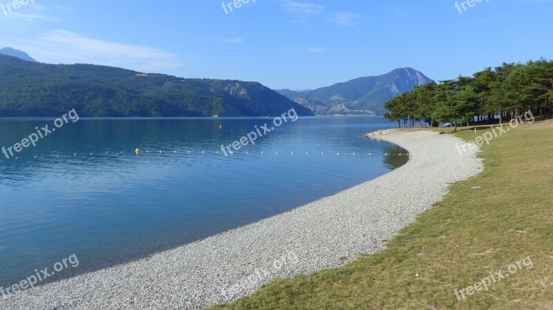
[[[453,134],[474,139],[474,130]],[[480,156],[485,171],[453,184],[384,251],[211,309],[553,309],[553,121],[518,126]],[[456,298],[453,289],[525,257],[532,269]]]

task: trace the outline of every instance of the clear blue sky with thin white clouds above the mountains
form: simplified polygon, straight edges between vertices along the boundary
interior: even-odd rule
[[[229,14],[222,0],[34,2],[0,10],[0,47],[50,64],[270,88],[318,88],[400,67],[449,79],[553,58],[553,0],[483,0],[462,13],[450,0],[256,0]]]

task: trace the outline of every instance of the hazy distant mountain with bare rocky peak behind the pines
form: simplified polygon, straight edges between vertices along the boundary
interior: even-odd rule
[[[310,108],[315,115],[382,115],[386,113],[386,101],[413,90],[415,85],[431,81],[413,68],[399,68],[385,75],[359,77],[315,90],[276,91]],[[328,109],[321,104],[328,106]]]

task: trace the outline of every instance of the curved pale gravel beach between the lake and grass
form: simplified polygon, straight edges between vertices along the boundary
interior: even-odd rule
[[[411,153],[395,171],[292,211],[176,249],[0,298],[3,309],[201,309],[274,278],[339,267],[375,253],[482,170],[451,135],[384,130],[371,137]]]

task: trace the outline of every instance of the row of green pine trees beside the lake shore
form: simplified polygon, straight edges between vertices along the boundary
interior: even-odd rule
[[[472,77],[431,82],[394,97],[384,105],[384,117],[401,128],[463,126],[476,122],[510,120],[525,111],[545,117],[553,114],[553,61],[486,68]]]

